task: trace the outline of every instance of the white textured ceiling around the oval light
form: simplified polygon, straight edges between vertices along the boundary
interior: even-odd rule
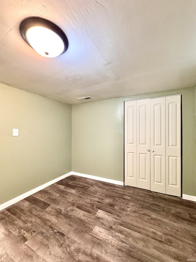
[[[196,85],[195,0],[0,0],[0,15],[1,83],[69,104]],[[57,24],[68,50],[36,53],[19,33],[29,16]]]

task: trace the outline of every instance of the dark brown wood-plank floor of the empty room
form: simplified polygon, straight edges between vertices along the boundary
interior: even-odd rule
[[[0,212],[0,261],[196,259],[196,203],[71,175]]]

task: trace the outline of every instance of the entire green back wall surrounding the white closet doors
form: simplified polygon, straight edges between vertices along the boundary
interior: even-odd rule
[[[182,191],[196,196],[195,88],[72,106],[72,171],[123,181],[124,101],[182,94]]]

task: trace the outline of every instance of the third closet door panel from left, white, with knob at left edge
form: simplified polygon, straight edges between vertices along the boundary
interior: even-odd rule
[[[165,194],[165,97],[150,99],[150,190]]]

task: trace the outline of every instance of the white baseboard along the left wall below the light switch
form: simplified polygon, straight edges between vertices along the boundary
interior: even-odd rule
[[[11,200],[1,204],[0,205],[0,211],[2,209],[7,208],[8,206],[11,206],[11,205],[17,203],[18,201],[20,201],[20,200],[22,200],[22,199],[24,199],[24,198],[26,198],[26,197],[28,197],[28,196],[30,196],[32,194],[35,194],[36,192],[42,190],[43,188],[48,187],[48,186],[58,182],[59,180],[68,177],[69,175],[72,175],[72,172],[69,172],[69,173],[67,173],[65,175],[59,176],[59,177],[57,177],[57,178],[55,178],[55,179],[53,179],[53,180],[51,180],[51,181],[49,181],[49,182],[39,186],[39,187],[36,187],[36,188],[34,188],[34,189],[32,189],[32,190],[30,190],[30,191],[28,191],[28,192],[26,192],[26,193],[24,193],[24,194],[22,194],[20,196],[17,196],[15,198],[13,198],[13,199],[11,199]]]

